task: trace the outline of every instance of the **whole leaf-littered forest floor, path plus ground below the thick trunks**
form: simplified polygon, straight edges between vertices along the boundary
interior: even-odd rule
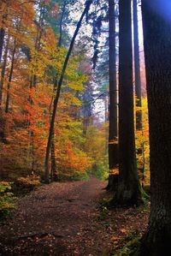
[[[0,225],[0,255],[112,255],[121,241],[144,232],[148,210],[100,207],[111,196],[105,186],[95,177],[54,182],[21,198]]]

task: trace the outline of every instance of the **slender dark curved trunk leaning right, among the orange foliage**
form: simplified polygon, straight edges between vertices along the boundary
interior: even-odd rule
[[[56,109],[57,109],[58,101],[59,101],[59,98],[60,98],[62,81],[63,81],[63,78],[64,78],[66,68],[68,66],[69,57],[70,57],[71,52],[72,52],[73,47],[74,47],[74,41],[76,39],[77,34],[79,33],[82,20],[85,17],[85,15],[87,14],[87,12],[88,12],[88,10],[91,6],[91,3],[92,3],[92,0],[88,0],[85,3],[85,9],[84,9],[82,15],[80,16],[80,21],[78,22],[77,27],[75,29],[74,36],[73,36],[73,39],[71,40],[71,44],[69,46],[67,56],[66,56],[65,61],[63,63],[62,73],[60,75],[60,79],[57,82],[56,98],[54,99],[54,104],[53,104],[53,112],[52,112],[51,122],[50,122],[50,132],[49,132],[48,144],[47,144],[47,147],[46,147],[46,155],[45,155],[45,164],[44,164],[44,179],[45,179],[45,182],[49,182],[49,176],[50,176],[49,158],[50,158],[51,138],[52,138],[53,130],[54,130],[54,123],[55,123],[55,119],[56,119]]]

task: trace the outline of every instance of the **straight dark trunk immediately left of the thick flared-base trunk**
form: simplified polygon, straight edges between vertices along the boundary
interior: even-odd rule
[[[115,68],[115,0],[109,0],[109,184],[107,189],[115,189],[117,186],[118,176],[112,174],[112,170],[116,168],[117,164],[118,120]]]

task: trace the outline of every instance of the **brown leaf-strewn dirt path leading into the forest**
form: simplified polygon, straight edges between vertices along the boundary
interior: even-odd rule
[[[19,202],[1,226],[0,255],[102,255],[109,234],[98,222],[105,182],[52,183]]]

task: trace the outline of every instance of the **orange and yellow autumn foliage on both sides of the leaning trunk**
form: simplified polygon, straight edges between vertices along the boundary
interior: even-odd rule
[[[50,1],[35,5],[22,0],[4,1],[1,6],[1,179],[43,174],[54,80],[67,51],[58,46],[59,32],[51,24],[54,17],[60,19],[60,8]],[[65,74],[54,131],[57,175],[72,176],[91,165],[83,152],[83,116],[77,114],[88,79],[80,70],[81,60],[84,57],[73,54]]]

